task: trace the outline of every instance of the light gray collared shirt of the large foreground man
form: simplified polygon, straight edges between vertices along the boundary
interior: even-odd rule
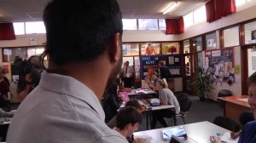
[[[43,72],[38,87],[20,104],[8,143],[127,143],[109,129],[99,100],[73,77]]]

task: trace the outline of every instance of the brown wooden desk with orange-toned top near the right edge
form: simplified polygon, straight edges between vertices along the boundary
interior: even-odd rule
[[[239,122],[241,113],[251,110],[250,105],[246,101],[240,100],[245,98],[247,98],[247,95],[218,97],[218,100],[224,100],[224,116]]]

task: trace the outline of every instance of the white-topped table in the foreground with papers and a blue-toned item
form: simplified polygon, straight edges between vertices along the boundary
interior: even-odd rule
[[[171,127],[173,128],[173,127]],[[223,129],[218,127],[213,123],[209,123],[207,121],[200,122],[200,123],[190,123],[183,125],[183,128],[186,130],[188,134],[188,139],[184,140],[187,143],[208,143],[210,142],[210,136],[216,135],[217,133],[224,134],[225,132],[230,132],[227,129]],[[168,129],[168,128],[163,128]],[[168,140],[163,140],[162,130],[163,129],[151,129],[142,132],[134,133],[134,137],[138,138],[140,136],[151,136],[153,139],[151,140],[152,143],[169,143]],[[169,127],[170,129],[170,127]]]

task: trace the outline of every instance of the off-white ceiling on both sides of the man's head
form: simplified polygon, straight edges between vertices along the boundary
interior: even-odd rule
[[[117,0],[123,18],[172,18],[197,9],[208,0],[179,0],[172,14],[162,12],[174,0]],[[0,0],[0,22],[42,20],[44,6],[49,0]],[[175,1],[177,2],[177,0]]]

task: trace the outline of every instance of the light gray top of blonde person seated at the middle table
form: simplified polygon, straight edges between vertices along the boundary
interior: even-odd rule
[[[180,112],[180,106],[177,101],[177,98],[172,93],[170,89],[161,89],[159,91],[159,99],[160,100],[167,100],[169,105],[175,106],[175,112],[178,114]]]

